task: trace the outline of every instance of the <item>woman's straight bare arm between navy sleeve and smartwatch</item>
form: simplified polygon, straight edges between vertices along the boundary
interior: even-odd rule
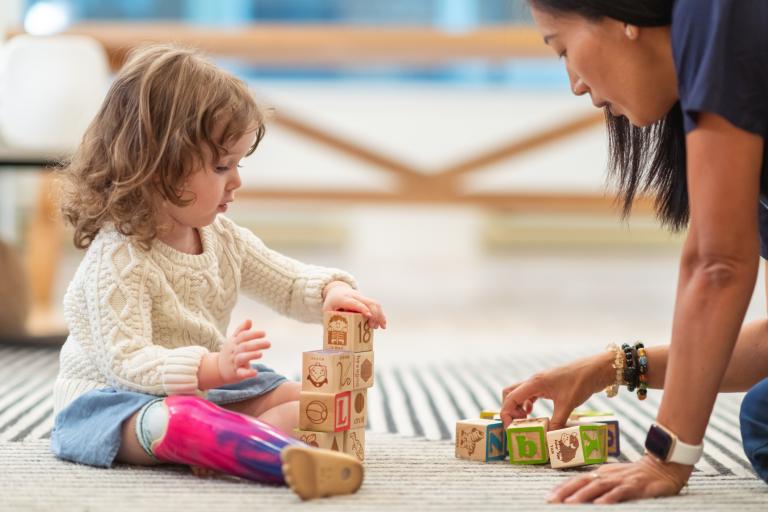
[[[657,421],[698,444],[754,290],[763,141],[702,113],[686,146],[691,221]]]

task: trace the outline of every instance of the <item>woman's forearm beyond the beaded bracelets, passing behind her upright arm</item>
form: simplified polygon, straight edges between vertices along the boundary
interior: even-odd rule
[[[662,389],[669,346],[649,347],[648,387]],[[746,324],[739,333],[728,362],[720,392],[747,391],[768,377],[768,320]]]

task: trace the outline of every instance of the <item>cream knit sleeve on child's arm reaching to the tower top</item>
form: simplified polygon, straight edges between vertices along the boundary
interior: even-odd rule
[[[357,282],[348,273],[307,265],[269,249],[250,230],[219,216],[231,233],[240,261],[241,290],[282,315],[303,322],[322,320],[323,290],[331,281]]]

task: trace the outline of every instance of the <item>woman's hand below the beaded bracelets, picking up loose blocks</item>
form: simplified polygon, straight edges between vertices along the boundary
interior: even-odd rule
[[[571,412],[594,393],[614,383],[614,354],[604,352],[574,363],[537,373],[512,384],[502,392],[501,419],[506,428],[514,419],[525,418],[538,398],[552,400],[550,430],[565,428]]]

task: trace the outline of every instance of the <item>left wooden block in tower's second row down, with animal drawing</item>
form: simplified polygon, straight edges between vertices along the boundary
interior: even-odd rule
[[[341,393],[352,389],[352,352],[311,350],[302,355],[301,389]]]

